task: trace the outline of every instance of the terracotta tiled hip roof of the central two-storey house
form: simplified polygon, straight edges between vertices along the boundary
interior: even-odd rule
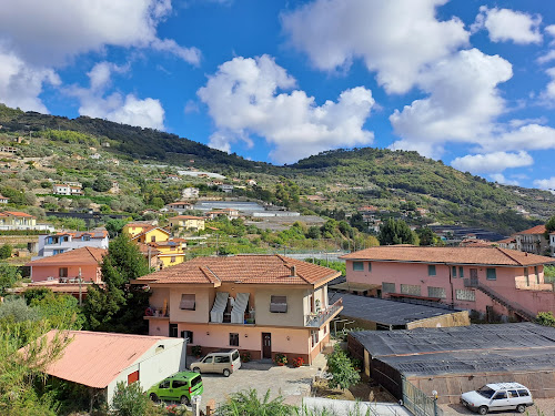
[[[291,266],[296,267],[292,275]],[[281,255],[236,255],[196,257],[189,262],[139,277],[151,283],[220,284],[317,284],[339,276],[340,272]]]

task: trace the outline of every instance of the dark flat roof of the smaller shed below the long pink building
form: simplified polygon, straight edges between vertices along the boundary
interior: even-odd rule
[[[330,294],[330,303],[343,298],[342,316],[375,322],[383,325],[406,325],[410,322],[452,314],[457,311],[376,297],[357,296],[349,293]]]

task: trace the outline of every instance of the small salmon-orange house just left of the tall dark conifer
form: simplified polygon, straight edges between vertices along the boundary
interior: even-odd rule
[[[31,267],[31,281],[58,281],[74,283],[78,277],[84,282],[100,283],[104,248],[81,247],[65,253],[39,258],[27,263]]]

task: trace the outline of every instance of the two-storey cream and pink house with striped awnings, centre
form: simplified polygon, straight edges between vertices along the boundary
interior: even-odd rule
[[[342,301],[329,303],[340,272],[281,255],[196,257],[133,281],[148,285],[149,334],[185,337],[203,353],[238,348],[254,359],[285,354],[312,363]]]

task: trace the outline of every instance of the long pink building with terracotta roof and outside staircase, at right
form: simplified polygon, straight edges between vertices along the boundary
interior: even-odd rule
[[[438,302],[519,319],[555,311],[553,285],[544,282],[544,264],[555,263],[552,257],[500,247],[391,245],[342,258],[347,282],[377,285],[384,298]]]

